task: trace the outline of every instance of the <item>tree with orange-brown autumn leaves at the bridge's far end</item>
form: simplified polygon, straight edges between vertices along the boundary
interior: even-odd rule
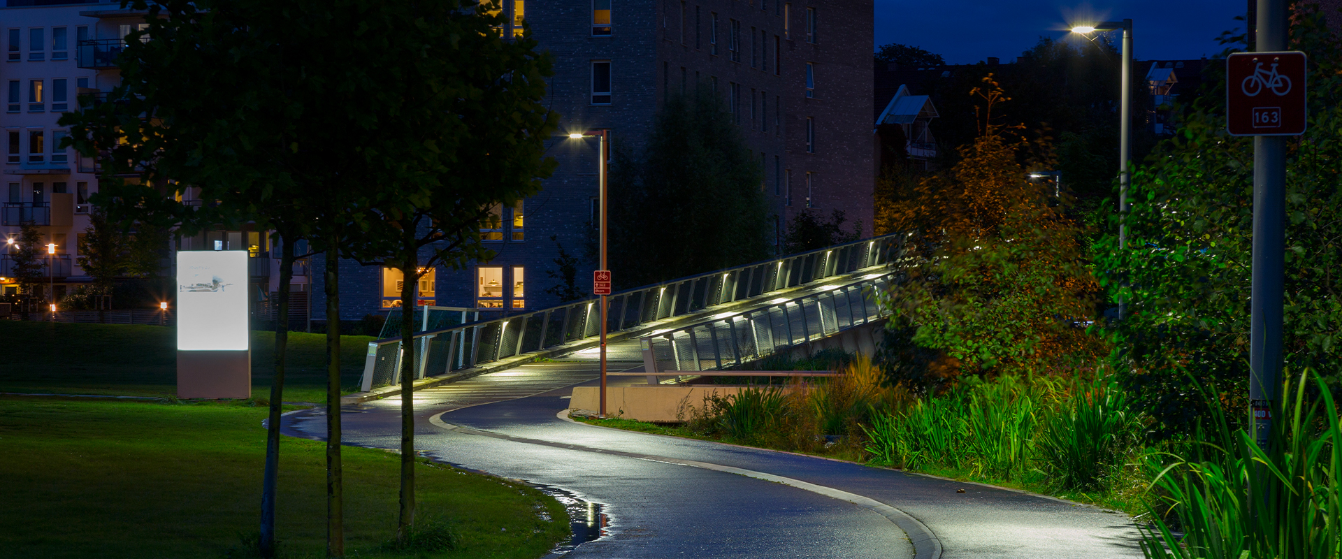
[[[996,106],[1009,101],[1000,86],[985,78],[972,94],[980,138],[888,217],[891,231],[911,233],[913,264],[880,299],[894,314],[887,353],[923,363],[892,381],[923,389],[956,374],[1047,371],[1095,351],[1075,326],[1092,315],[1096,290],[1080,229],[1051,188],[1025,180],[1017,151],[1027,143],[993,123]]]

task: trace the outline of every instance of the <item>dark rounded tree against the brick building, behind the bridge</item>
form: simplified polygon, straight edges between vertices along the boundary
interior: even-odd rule
[[[764,169],[707,87],[668,98],[641,153],[613,151],[608,243],[623,286],[769,255]]]

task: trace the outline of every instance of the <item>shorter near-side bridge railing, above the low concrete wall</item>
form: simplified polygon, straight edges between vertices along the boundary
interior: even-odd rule
[[[644,370],[721,370],[883,319],[887,312],[872,295],[887,288],[894,273],[892,269],[868,273],[800,298],[776,299],[743,312],[723,312],[648,334],[639,339]]]

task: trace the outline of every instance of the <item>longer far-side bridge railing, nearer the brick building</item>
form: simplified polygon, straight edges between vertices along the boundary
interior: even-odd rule
[[[825,277],[883,267],[899,257],[902,235],[884,235],[609,295],[607,330],[635,330]],[[600,334],[599,299],[415,334],[416,378],[552,350]],[[400,382],[400,338],[368,345],[364,391]]]

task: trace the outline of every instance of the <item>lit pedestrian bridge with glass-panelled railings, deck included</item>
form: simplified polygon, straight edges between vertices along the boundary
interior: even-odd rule
[[[896,272],[900,239],[864,239],[612,294],[608,349],[619,359],[644,362],[647,371],[698,371],[844,339],[884,318],[874,294]],[[474,311],[462,308],[416,311],[423,330],[413,338],[416,387],[586,354],[599,345],[599,304],[589,298],[488,320],[470,320]],[[368,345],[364,394],[353,399],[397,391],[400,343],[388,336]],[[856,336],[849,349],[870,343]]]

